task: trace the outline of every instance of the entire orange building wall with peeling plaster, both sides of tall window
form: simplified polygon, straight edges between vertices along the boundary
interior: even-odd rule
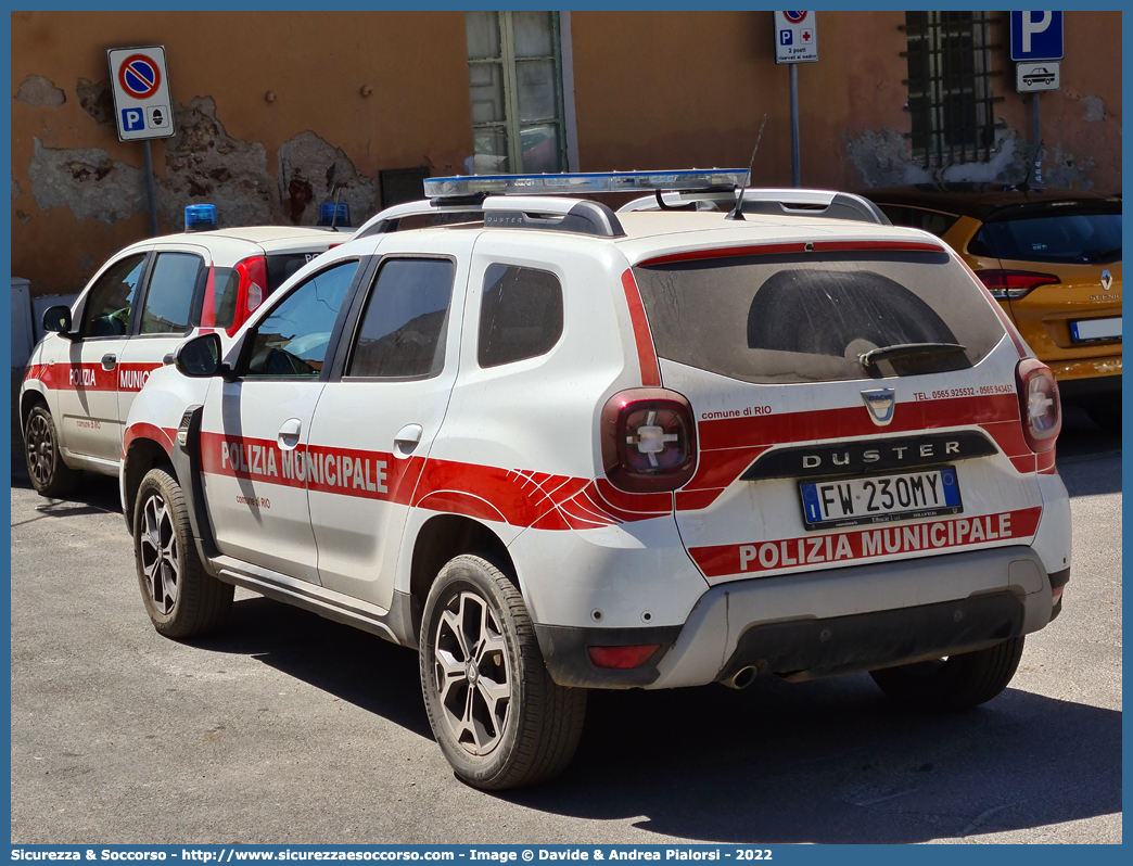
[[[802,181],[860,189],[1019,180],[1033,152],[1004,24],[993,42],[989,163],[926,171],[910,158],[904,12],[818,12],[820,61],[799,69]],[[995,17],[1006,22],[1006,12]],[[230,223],[309,223],[335,189],[356,220],[382,169],[462,171],[471,153],[462,12],[12,12],[12,272],[74,291],[148,231],[139,144],[121,144],[105,50],[165,45],[178,135],[155,142],[161,230],[215,202]],[[585,171],[747,165],[791,181],[787,69],[772,14],[571,15]],[[1042,96],[1045,180],[1121,185],[1121,14],[1065,14],[1063,90]],[[364,95],[368,88],[369,95]],[[267,99],[267,94],[272,99]]]

